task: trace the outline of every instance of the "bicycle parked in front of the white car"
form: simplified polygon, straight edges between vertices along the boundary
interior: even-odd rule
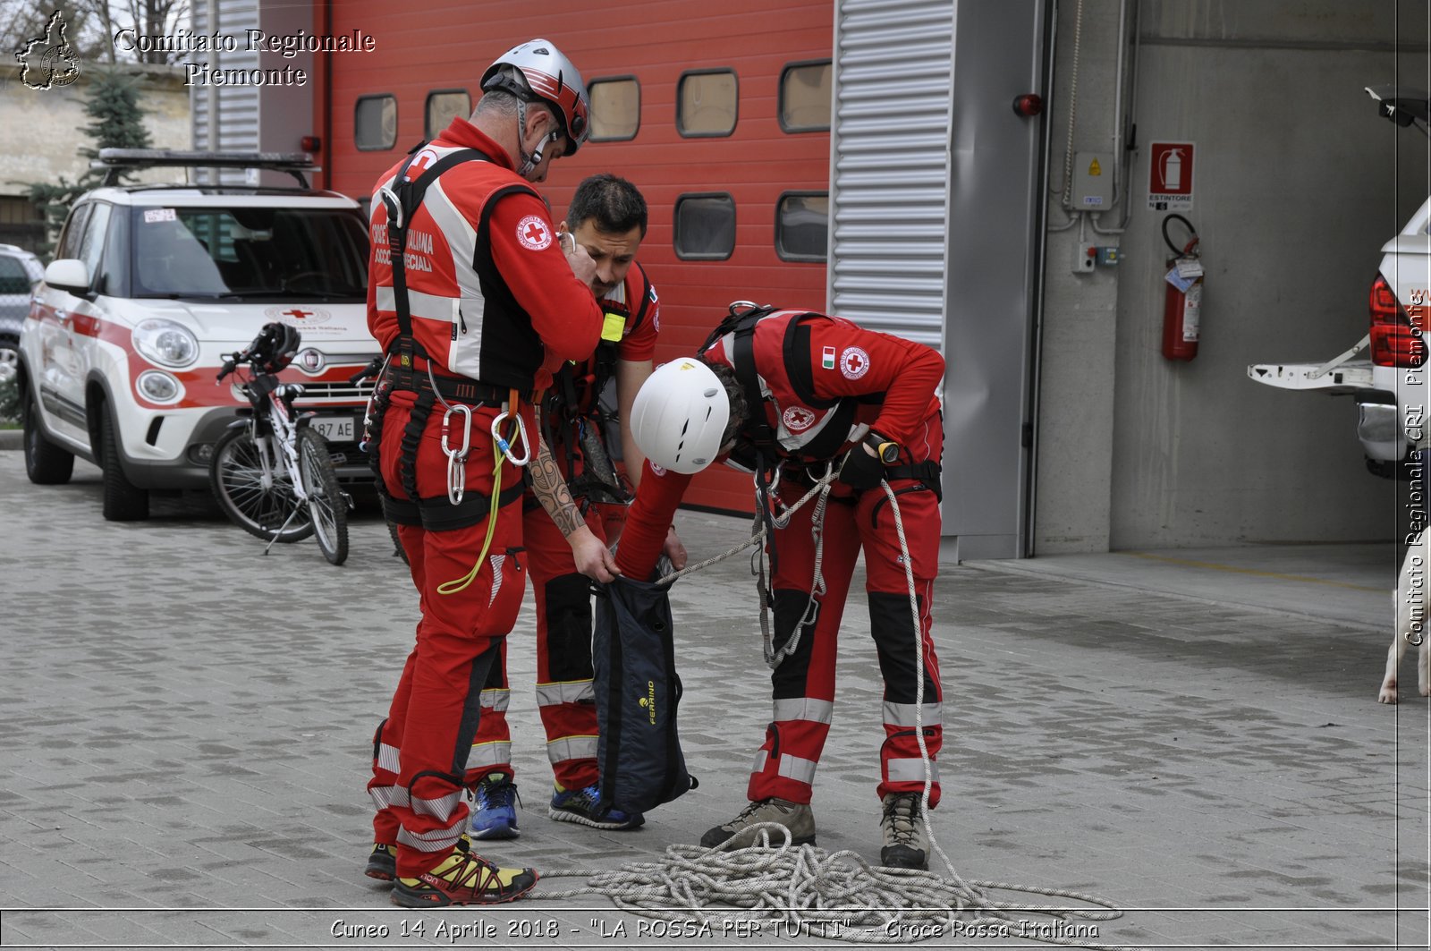
[[[301,344],[288,324],[265,324],[248,348],[225,358],[219,380],[239,372],[250,407],[215,444],[209,484],[230,521],[269,543],[263,554],[276,541],[316,536],[323,557],[342,564],[352,501],[338,487],[328,441],[309,427],[315,414],[293,410],[302,384],[279,382],[276,375]]]

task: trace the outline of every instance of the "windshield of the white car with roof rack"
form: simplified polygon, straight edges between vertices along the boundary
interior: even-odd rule
[[[136,298],[362,301],[368,233],[325,208],[136,208]]]

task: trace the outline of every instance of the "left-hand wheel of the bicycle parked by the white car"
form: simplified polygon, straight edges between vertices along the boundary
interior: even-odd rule
[[[299,506],[286,467],[263,484],[259,445],[248,427],[225,433],[213,447],[209,486],[229,521],[265,541],[299,541],[313,534],[308,507]]]

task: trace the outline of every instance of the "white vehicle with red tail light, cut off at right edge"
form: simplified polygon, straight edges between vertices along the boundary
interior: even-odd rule
[[[1420,90],[1372,86],[1382,116],[1398,126],[1428,132],[1428,97]],[[1367,467],[1392,477],[1397,464],[1417,444],[1425,444],[1428,357],[1431,328],[1431,198],[1401,233],[1381,248],[1381,268],[1367,294],[1369,327],[1351,349],[1322,364],[1252,364],[1248,377],[1282,390],[1355,394],[1357,435]],[[1367,357],[1358,354],[1368,351]]]

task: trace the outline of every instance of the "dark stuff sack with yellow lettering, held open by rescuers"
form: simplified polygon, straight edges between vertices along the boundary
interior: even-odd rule
[[[592,587],[600,805],[647,812],[695,786],[675,735],[681,679],[671,602],[667,587],[624,577]]]

